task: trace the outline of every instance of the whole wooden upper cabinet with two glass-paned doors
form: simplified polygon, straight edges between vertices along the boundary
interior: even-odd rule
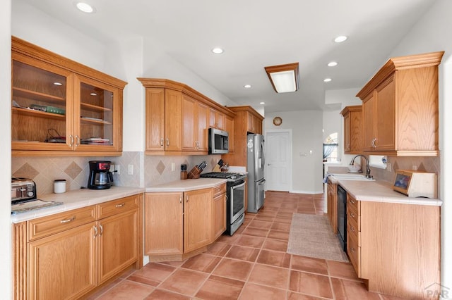
[[[13,156],[119,156],[126,82],[12,37]]]

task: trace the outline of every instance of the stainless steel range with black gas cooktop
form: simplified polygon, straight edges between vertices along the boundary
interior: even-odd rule
[[[234,235],[245,220],[245,178],[239,173],[212,172],[201,174],[205,178],[225,178],[226,183],[226,233]]]

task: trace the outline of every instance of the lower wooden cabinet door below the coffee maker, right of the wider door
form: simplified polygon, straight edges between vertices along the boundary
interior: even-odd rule
[[[136,209],[98,222],[98,284],[109,280],[138,258]]]

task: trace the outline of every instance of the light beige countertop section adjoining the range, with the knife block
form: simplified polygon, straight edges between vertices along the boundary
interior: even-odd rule
[[[194,189],[207,189],[221,185],[227,182],[227,179],[220,178],[198,178],[187,180],[176,180],[173,182],[163,183],[162,185],[155,185],[154,187],[147,187],[146,192],[187,192]]]

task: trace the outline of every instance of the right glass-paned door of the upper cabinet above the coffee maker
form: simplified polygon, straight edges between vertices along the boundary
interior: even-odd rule
[[[120,149],[122,105],[119,90],[102,82],[76,76],[73,138],[75,150]]]

